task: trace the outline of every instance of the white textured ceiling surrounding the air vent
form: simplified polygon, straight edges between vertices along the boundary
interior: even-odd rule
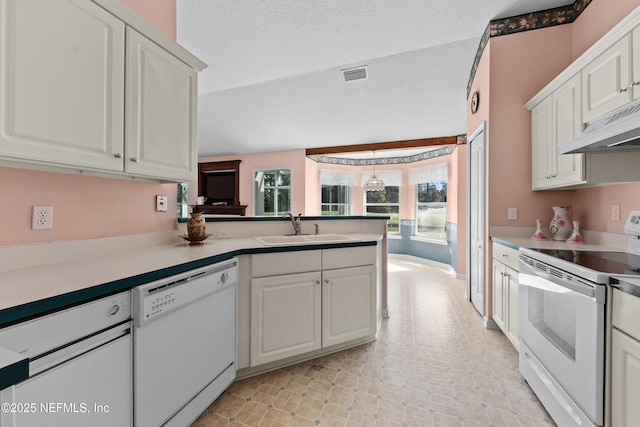
[[[452,136],[490,20],[573,0],[177,0],[200,156]],[[367,65],[369,78],[341,70]]]

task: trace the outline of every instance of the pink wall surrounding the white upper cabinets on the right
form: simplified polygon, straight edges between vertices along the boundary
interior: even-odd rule
[[[574,24],[490,40],[490,50],[485,50],[481,61],[481,67],[486,67],[484,60],[490,58],[490,111],[478,113],[489,118],[490,226],[531,227],[537,218],[546,221],[551,217],[551,206],[571,205],[571,217],[583,221],[583,228],[623,232],[622,221],[610,220],[610,200],[620,201],[623,215],[638,208],[633,201],[640,184],[531,191],[531,115],[523,105],[576,59],[576,51],[578,54],[584,52],[586,48],[581,46],[584,40],[588,40],[590,46],[638,4],[639,0],[616,2],[615,5],[606,0],[594,0]],[[486,69],[476,75],[474,87],[481,87],[485,92],[487,82],[483,73]],[[478,119],[469,118],[469,132],[475,129]],[[598,209],[604,212],[603,216],[587,214],[592,212],[594,200],[607,204]],[[507,220],[508,207],[518,208],[517,221]]]

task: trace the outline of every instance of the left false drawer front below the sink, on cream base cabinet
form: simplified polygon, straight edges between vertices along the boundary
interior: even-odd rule
[[[251,255],[251,277],[320,271],[322,252],[292,251]]]

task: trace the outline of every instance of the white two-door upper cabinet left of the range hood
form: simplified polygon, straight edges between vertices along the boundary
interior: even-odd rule
[[[584,182],[584,154],[558,152],[560,145],[573,141],[581,130],[580,74],[576,74],[531,110],[533,190]]]

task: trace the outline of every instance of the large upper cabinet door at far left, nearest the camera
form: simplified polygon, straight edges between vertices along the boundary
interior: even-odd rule
[[[0,8],[0,156],[122,171],[124,24],[84,0]]]

